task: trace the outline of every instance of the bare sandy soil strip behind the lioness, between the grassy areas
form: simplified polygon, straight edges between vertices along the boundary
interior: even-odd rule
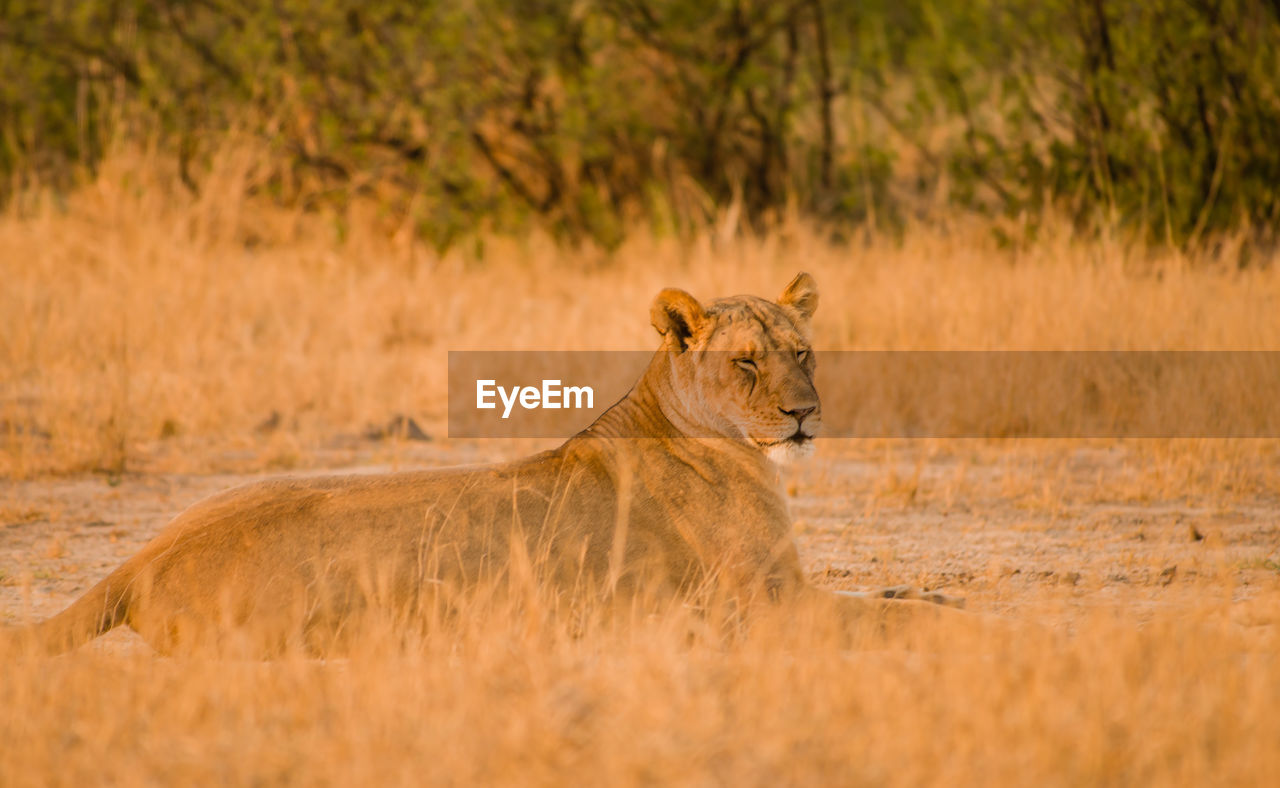
[[[356,441],[312,452],[292,473],[366,473],[504,459],[531,445]],[[230,457],[227,467],[246,457]],[[1051,458],[1051,462],[1046,459]],[[246,459],[248,458],[248,459]],[[393,461],[393,462],[389,462]],[[801,555],[838,588],[945,587],[972,609],[1070,627],[1100,606],[1155,611],[1280,590],[1280,496],[1107,498],[1128,448],[989,446],[975,457],[904,444],[886,459],[828,444],[785,472]],[[243,464],[243,463],[242,463]],[[250,462],[252,464],[252,462]],[[1044,468],[1053,472],[1046,478]],[[105,577],[178,512],[264,472],[83,475],[0,481],[0,622],[51,615]],[[106,649],[146,646],[128,632]]]

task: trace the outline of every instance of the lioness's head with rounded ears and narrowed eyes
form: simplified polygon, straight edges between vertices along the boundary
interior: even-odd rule
[[[771,302],[732,296],[705,307],[667,289],[650,317],[663,335],[678,412],[691,434],[744,440],[774,462],[809,454],[822,426],[809,325],[813,276],[800,274]]]

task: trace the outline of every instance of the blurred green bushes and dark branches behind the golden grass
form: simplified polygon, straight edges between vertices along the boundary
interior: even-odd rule
[[[1270,244],[1280,0],[0,0],[0,201],[119,145],[198,192],[229,139],[439,247],[957,209]]]

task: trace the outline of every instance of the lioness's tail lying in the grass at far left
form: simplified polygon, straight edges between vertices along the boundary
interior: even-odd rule
[[[0,650],[61,654],[124,623],[132,600],[132,563],[125,562],[58,615],[29,626],[0,629]]]

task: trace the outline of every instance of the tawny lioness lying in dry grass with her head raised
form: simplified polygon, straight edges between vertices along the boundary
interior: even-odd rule
[[[822,423],[817,306],[808,274],[777,302],[663,290],[650,311],[662,347],[640,381],[558,449],[237,487],[23,637],[59,652],[123,623],[161,652],[228,631],[264,654],[325,651],[372,608],[421,613],[485,578],[677,596],[712,583],[748,603],[814,594],[774,463],[808,454]]]

